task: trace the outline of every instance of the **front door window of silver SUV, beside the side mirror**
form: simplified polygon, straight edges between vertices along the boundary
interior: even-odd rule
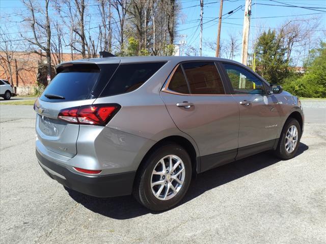
[[[229,76],[234,94],[238,95],[263,95],[265,89],[263,82],[253,73],[231,64],[223,64]]]

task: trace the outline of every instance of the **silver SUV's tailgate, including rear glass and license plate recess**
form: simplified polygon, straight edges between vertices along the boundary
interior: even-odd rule
[[[50,151],[63,156],[77,154],[79,125],[58,119],[61,110],[91,105],[118,64],[73,64],[59,67],[59,73],[35,102],[36,133]]]

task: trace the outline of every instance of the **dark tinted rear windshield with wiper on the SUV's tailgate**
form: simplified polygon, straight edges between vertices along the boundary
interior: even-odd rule
[[[44,90],[41,100],[48,102],[67,102],[94,98],[96,86],[104,85],[118,65],[106,65],[103,72],[93,64],[76,64],[59,67],[58,74]],[[105,82],[105,84],[103,84]],[[62,96],[65,99],[48,99],[46,94]],[[98,94],[97,94],[98,96]],[[95,97],[97,97],[95,96]]]

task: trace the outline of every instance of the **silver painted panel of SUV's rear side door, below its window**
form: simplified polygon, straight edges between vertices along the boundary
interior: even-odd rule
[[[238,147],[239,109],[232,96],[184,96],[161,92],[161,97],[177,127],[196,141],[201,156]],[[189,109],[176,106],[183,101],[194,106]]]

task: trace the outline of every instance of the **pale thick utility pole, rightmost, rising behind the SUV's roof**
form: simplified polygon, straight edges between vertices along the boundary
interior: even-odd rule
[[[251,16],[251,1],[246,0],[244,6],[243,32],[242,32],[242,51],[241,63],[247,65],[248,60],[248,44],[249,44],[249,30],[250,30],[250,16]]]

